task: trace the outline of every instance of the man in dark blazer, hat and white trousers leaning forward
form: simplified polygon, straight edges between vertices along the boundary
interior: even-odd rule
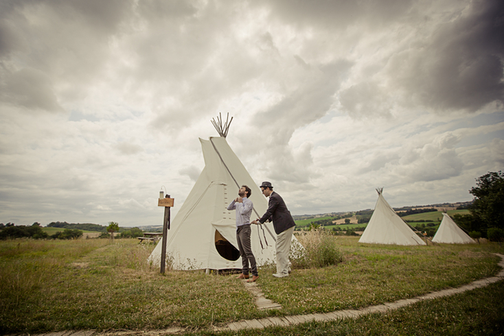
[[[290,242],[293,239],[293,232],[296,226],[293,216],[290,215],[284,200],[273,191],[270,182],[262,182],[262,194],[269,197],[268,210],[260,219],[255,219],[251,224],[263,224],[265,221],[273,221],[273,228],[277,233],[277,273],[275,278],[288,276]]]

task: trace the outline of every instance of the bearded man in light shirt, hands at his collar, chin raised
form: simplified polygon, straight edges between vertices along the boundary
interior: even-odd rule
[[[236,210],[236,241],[238,241],[238,249],[240,256],[242,256],[242,274],[238,278],[248,279],[250,270],[252,278],[248,280],[249,283],[253,283],[259,278],[250,243],[250,215],[253,208],[252,201],[249,200],[251,192],[249,187],[242,186],[238,191],[238,197],[227,206],[227,210]]]

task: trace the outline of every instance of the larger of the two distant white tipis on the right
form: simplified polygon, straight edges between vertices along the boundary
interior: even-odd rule
[[[383,188],[378,191],[378,201],[373,215],[369,219],[359,243],[394,244],[394,245],[426,245],[418,235],[411,230],[396,211],[383,197]]]

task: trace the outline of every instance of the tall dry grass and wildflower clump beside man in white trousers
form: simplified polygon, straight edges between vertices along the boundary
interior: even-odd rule
[[[290,249],[294,268],[325,267],[343,261],[343,254],[336,248],[336,237],[327,230],[301,231],[297,238],[302,246]]]

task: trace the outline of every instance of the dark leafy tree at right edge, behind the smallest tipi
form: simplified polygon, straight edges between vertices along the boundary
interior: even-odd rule
[[[477,187],[469,191],[474,195],[472,215],[487,228],[504,229],[504,173],[488,172],[476,179]]]

